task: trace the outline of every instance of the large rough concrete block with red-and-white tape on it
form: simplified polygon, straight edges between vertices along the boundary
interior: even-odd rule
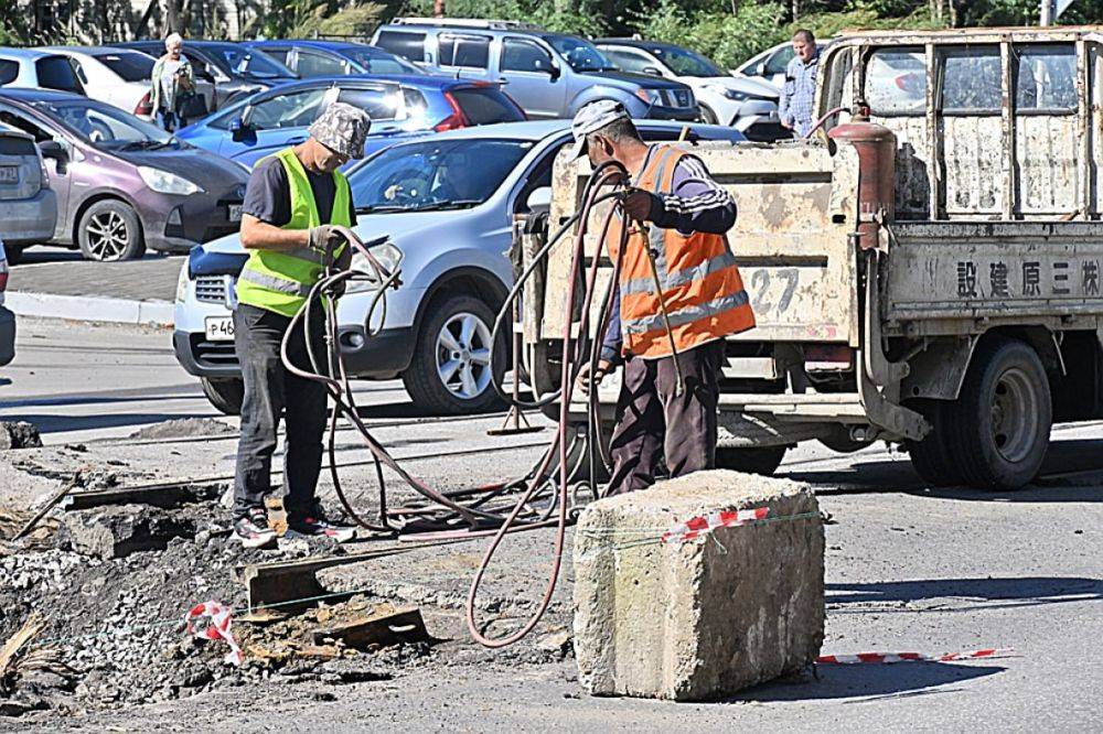
[[[661,540],[690,518],[758,507],[769,519]],[[807,486],[711,471],[602,499],[579,519],[574,562],[575,651],[591,694],[715,700],[820,652],[824,531]]]

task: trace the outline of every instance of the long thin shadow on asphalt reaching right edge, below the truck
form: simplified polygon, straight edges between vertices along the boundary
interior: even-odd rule
[[[981,608],[1013,608],[1069,602],[1103,601],[1103,580],[1079,576],[1021,576],[1005,579],[934,579],[922,581],[887,581],[826,585],[827,604],[844,605],[831,614],[845,611],[846,604],[885,602],[914,602],[919,600],[949,600],[936,612],[964,612]],[[955,601],[981,603],[954,604]],[[985,604],[984,602],[993,602]],[[881,613],[884,609],[878,609]],[[914,613],[914,608],[901,608]],[[865,609],[864,609],[865,612]]]

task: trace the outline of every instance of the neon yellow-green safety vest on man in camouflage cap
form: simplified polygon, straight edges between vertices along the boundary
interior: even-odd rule
[[[290,148],[275,154],[287,174],[291,195],[291,218],[283,229],[311,229],[321,224],[350,226],[349,182],[333,172],[333,209],[323,223],[318,214],[314,193],[302,163]],[[346,246],[345,246],[346,247]],[[309,247],[293,250],[253,250],[237,279],[237,300],[285,316],[293,316],[322,277],[322,256]]]

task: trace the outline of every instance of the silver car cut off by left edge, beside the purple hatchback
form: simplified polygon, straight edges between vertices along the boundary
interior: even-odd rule
[[[24,247],[49,240],[56,224],[57,196],[34,138],[0,123],[0,238],[8,259],[18,262]]]

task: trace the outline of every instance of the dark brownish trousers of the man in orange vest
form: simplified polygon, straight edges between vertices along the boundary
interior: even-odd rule
[[[610,494],[650,487],[664,457],[671,476],[716,465],[716,403],[724,339],[679,353],[677,359],[685,377],[682,395],[676,395],[674,357],[633,357],[624,363],[610,442]]]

